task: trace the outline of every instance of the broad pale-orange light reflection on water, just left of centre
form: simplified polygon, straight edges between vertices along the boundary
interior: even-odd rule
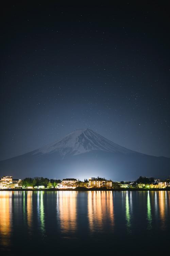
[[[58,216],[62,233],[75,232],[77,229],[77,195],[76,191],[58,193]]]

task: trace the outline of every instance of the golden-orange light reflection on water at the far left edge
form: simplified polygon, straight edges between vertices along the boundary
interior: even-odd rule
[[[0,242],[10,245],[12,226],[12,192],[0,191]]]

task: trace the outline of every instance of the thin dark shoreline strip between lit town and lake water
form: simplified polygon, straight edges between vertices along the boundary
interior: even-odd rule
[[[6,188],[0,189],[0,191],[170,191],[168,188],[67,188],[67,189],[58,189],[58,188],[43,188],[43,189],[27,189],[27,188]]]

